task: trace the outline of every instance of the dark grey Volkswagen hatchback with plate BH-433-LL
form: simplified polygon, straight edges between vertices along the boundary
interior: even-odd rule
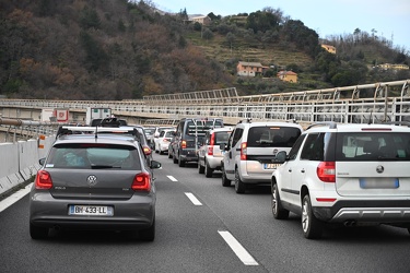
[[[30,197],[30,234],[50,228],[136,230],[155,238],[155,185],[137,142],[103,134],[59,136],[40,159]]]

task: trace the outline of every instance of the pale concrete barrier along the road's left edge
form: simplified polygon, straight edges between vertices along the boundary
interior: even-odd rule
[[[39,140],[0,143],[0,195],[30,180],[40,168],[39,158],[47,155],[55,136],[43,140],[44,149],[38,149]]]

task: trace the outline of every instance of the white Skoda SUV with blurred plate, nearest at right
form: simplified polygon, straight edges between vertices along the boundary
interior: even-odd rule
[[[325,223],[409,229],[409,127],[321,123],[277,158],[284,163],[272,175],[273,216],[302,215],[306,238],[319,238]]]

